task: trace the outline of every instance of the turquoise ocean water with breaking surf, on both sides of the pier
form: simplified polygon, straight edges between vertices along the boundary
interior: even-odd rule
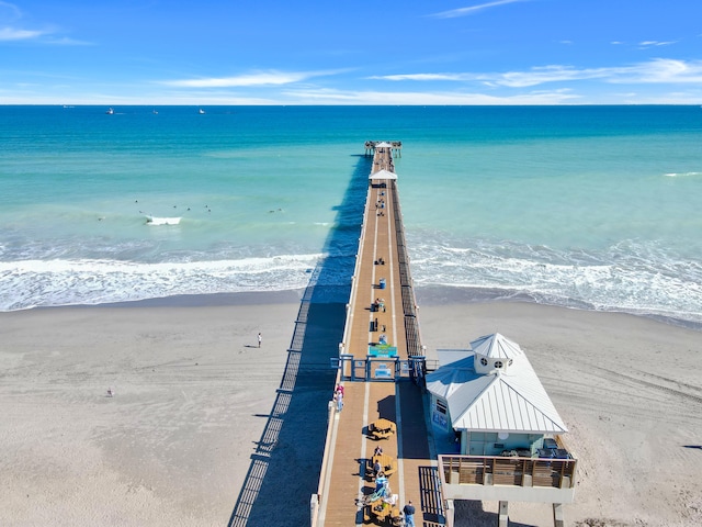
[[[0,310],[313,277],[344,301],[363,144],[399,139],[418,289],[702,323],[699,106],[105,110],[0,106]]]

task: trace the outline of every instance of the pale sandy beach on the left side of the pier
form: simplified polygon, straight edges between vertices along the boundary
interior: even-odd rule
[[[305,438],[299,448],[313,453],[297,459],[303,436],[286,444],[270,418],[287,382],[298,295],[159,303],[0,315],[0,524],[223,526],[246,505],[239,494],[257,452],[275,448],[293,469],[317,470],[324,434],[321,444]],[[299,524],[301,513],[291,517]]]

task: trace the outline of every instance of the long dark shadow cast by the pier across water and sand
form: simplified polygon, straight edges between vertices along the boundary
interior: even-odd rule
[[[295,322],[283,379],[228,527],[309,525],[372,158],[359,156]]]

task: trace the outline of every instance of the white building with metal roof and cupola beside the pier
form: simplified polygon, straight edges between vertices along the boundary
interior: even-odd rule
[[[518,344],[496,333],[471,343],[427,375],[437,431],[460,437],[458,456],[439,456],[444,498],[562,505],[575,497],[576,460],[564,448],[567,428]],[[446,507],[449,511],[452,508]]]

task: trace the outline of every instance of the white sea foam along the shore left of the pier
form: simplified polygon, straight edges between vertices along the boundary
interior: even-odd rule
[[[0,262],[0,310],[302,289],[309,281],[309,270],[321,258],[322,255],[286,255],[158,264],[104,259]]]

